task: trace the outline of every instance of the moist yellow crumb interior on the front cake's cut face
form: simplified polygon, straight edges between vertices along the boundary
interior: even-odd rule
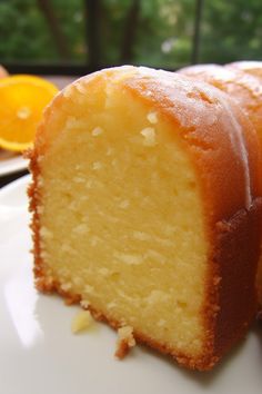
[[[150,101],[105,79],[97,85],[67,95],[39,159],[46,279],[198,357],[208,245],[194,169]]]

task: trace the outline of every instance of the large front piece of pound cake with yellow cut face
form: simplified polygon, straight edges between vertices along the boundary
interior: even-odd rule
[[[246,332],[258,141],[218,89],[121,67],[46,110],[31,156],[34,275],[137,342],[209,370]]]

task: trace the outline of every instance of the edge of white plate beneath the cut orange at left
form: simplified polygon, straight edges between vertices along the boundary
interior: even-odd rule
[[[27,169],[28,160],[21,155],[14,155],[0,149],[0,177]]]

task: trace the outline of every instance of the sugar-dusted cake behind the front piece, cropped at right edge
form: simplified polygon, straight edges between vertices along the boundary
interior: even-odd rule
[[[180,72],[209,82],[230,95],[253,124],[262,152],[262,62],[240,61],[225,67],[198,65],[181,69]],[[260,309],[262,309],[262,254],[259,262],[256,286]]]

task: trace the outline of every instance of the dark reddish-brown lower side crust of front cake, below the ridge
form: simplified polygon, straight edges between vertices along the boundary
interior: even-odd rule
[[[213,262],[218,285],[218,305],[215,314],[215,353],[223,354],[230,344],[243,336],[256,312],[256,292],[254,283],[260,254],[262,198],[254,200],[249,211],[242,209],[230,220],[215,226],[216,247]],[[246,245],[248,239],[248,245]],[[210,293],[212,280],[210,278]],[[229,292],[230,289],[230,292]]]

